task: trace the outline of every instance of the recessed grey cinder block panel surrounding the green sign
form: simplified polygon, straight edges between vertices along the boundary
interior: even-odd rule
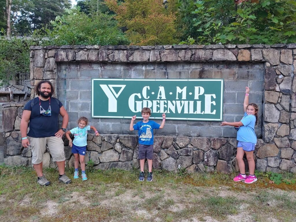
[[[259,124],[256,134],[261,138],[263,102],[263,63],[230,62],[163,62],[163,63],[62,63],[58,66],[57,96],[69,111],[69,127],[76,127],[78,116],[89,118],[99,132],[130,132],[130,119],[91,118],[91,78],[223,78],[223,119],[234,122],[242,118],[245,86],[252,92],[250,101],[259,105]],[[166,120],[165,129],[157,134],[176,136],[236,137],[230,127],[219,126],[215,121]]]

